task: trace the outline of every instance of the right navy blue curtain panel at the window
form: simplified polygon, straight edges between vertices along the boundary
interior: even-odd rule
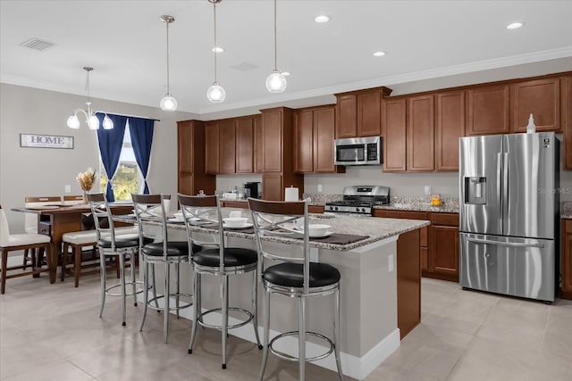
[[[149,158],[151,157],[151,145],[153,145],[153,128],[155,120],[143,118],[129,118],[129,130],[131,134],[131,144],[135,153],[135,160],[139,165],[139,170],[143,174],[143,194],[149,194],[147,184],[147,171],[149,170]]]

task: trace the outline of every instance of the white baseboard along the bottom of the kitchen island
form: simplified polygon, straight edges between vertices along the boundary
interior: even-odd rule
[[[150,294],[149,294],[149,297]],[[143,301],[143,297],[139,295],[139,299],[141,302]],[[161,301],[161,300],[160,300]],[[174,299],[171,299],[171,305],[174,305]],[[159,302],[159,305],[162,305]],[[206,310],[203,310],[206,311]],[[188,308],[185,310],[181,310],[180,314],[181,317],[192,320],[192,308]],[[221,314],[218,312],[213,312],[208,315],[208,320],[213,319],[214,321],[221,320]],[[239,319],[235,319],[229,317],[229,325],[239,323]],[[260,321],[258,321],[260,325]],[[258,326],[258,335],[260,336],[260,340],[263,340],[263,327]],[[281,332],[270,330],[270,339],[276,335],[280,335]],[[252,325],[247,324],[243,327],[238,327],[235,329],[229,330],[229,335],[235,335],[240,337],[243,340],[247,340],[251,343],[256,343],[257,339],[254,333],[254,329]],[[278,344],[278,342],[276,343]],[[377,368],[383,360],[387,359],[391,353],[395,352],[400,347],[400,329],[395,328],[389,335],[385,336],[382,341],[374,346],[371,350],[366,352],[362,357],[357,357],[355,355],[341,352],[341,369],[345,376],[356,378],[357,380],[363,380],[369,375],[375,368]],[[296,356],[298,355],[298,339],[294,336],[286,336],[280,341],[280,346],[277,348],[285,353],[290,355]],[[327,351],[328,348],[324,345],[315,344],[315,343],[307,343],[307,356],[315,355],[318,353],[324,353]],[[260,356],[262,360],[262,353]],[[325,369],[331,369],[333,371],[337,371],[336,368],[336,361],[332,355],[326,357],[323,360],[314,361],[313,364],[323,367]]]

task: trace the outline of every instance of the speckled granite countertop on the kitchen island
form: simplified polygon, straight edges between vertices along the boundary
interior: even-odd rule
[[[239,209],[235,210],[238,211]],[[250,214],[248,212],[243,213],[243,216],[250,218]],[[330,225],[332,227],[330,228],[330,231],[333,233],[355,236],[369,236],[366,239],[351,244],[331,244],[320,242],[319,240],[310,240],[310,246],[312,247],[337,251],[353,250],[357,247],[365,246],[366,244],[372,244],[376,241],[381,241],[384,238],[407,233],[408,231],[416,230],[418,228],[423,228],[430,224],[429,221],[419,219],[376,219],[369,216],[331,216],[323,214],[311,214],[309,218],[310,223]],[[133,221],[132,218],[128,218],[126,216],[115,216],[114,219],[124,222]],[[169,226],[170,228],[174,229],[185,229],[185,226],[182,223],[170,223]],[[199,226],[193,227],[193,229],[202,233],[214,232],[214,229],[212,228],[202,228]],[[247,239],[255,238],[254,234],[241,232],[240,230],[225,229],[224,234],[226,236],[235,236]],[[281,244],[303,244],[301,239],[290,238],[288,236],[263,236],[263,239]]]

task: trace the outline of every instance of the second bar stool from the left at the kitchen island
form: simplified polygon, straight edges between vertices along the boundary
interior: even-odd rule
[[[145,318],[147,317],[147,308],[156,311],[164,312],[164,343],[167,343],[169,337],[169,313],[176,311],[177,318],[179,318],[179,311],[188,308],[192,302],[187,302],[181,305],[181,297],[192,299],[191,294],[182,294],[180,292],[180,265],[181,263],[189,262],[190,251],[187,241],[172,241],[168,236],[167,229],[167,215],[165,212],[165,200],[168,198],[165,195],[136,195],[131,194],[133,199],[133,207],[137,216],[139,226],[139,240],[141,258],[144,262],[143,270],[143,288],[146,290],[144,293],[145,310],[143,311],[143,319],[139,331],[143,330],[145,325]],[[150,233],[143,229],[144,223],[150,225],[158,225],[156,233]],[[153,242],[155,241],[155,242]],[[164,294],[156,294],[155,283],[155,265],[164,265]],[[153,297],[149,300],[149,265],[152,266],[153,276]],[[176,271],[176,291],[171,293],[171,266],[174,265]],[[175,299],[175,306],[170,305],[171,298]],[[163,300],[163,306],[159,306],[158,302]],[[152,303],[155,302],[155,305]]]

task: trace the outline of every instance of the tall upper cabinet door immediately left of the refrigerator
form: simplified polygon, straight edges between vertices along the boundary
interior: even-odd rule
[[[465,92],[435,97],[435,170],[458,170],[458,138],[465,130]]]

